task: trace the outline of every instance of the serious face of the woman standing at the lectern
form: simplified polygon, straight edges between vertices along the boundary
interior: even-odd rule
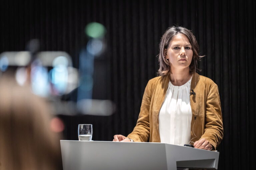
[[[184,69],[189,67],[193,56],[192,46],[183,34],[172,37],[166,50],[166,59],[169,59],[171,69]]]

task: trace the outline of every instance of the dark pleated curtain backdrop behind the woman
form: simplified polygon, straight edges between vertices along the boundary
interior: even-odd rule
[[[255,9],[255,1],[249,0],[1,1],[0,52],[24,50],[26,42],[37,38],[41,50],[67,51],[78,68],[79,51],[88,40],[85,26],[103,24],[107,50],[95,60],[95,74],[104,72],[105,79],[102,83],[96,78],[94,94],[102,93],[94,98],[111,99],[116,112],[108,117],[60,117],[66,139],[77,140],[78,124],[91,123],[93,140],[112,140],[136,124],[144,88],[158,70],[160,37],[170,26],[184,26],[206,55],[200,74],[219,87],[224,123],[219,169],[254,169]]]

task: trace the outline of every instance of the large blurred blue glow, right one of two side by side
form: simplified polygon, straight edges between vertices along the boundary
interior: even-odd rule
[[[68,81],[67,67],[63,65],[55,66],[50,71],[50,77],[55,90],[57,90],[57,94],[58,95],[64,94],[67,88],[67,81]]]

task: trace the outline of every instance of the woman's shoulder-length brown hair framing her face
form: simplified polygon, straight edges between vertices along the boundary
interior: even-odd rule
[[[160,44],[159,44],[159,55],[158,55],[158,61],[159,61],[159,65],[160,68],[158,70],[158,75],[166,75],[169,74],[171,72],[171,68],[170,65],[167,62],[167,59],[165,58],[166,56],[166,49],[169,46],[169,43],[171,41],[171,39],[173,38],[173,36],[177,35],[177,34],[183,34],[185,35],[191,46],[192,46],[192,50],[193,50],[193,57],[192,57],[192,61],[189,65],[189,72],[190,73],[194,73],[195,71],[201,71],[198,68],[198,61],[200,61],[200,57],[199,56],[199,46],[198,43],[196,41],[195,36],[192,34],[192,32],[184,27],[176,27],[176,26],[172,26],[169,27],[163,37],[161,38]],[[196,67],[196,70],[195,70]]]

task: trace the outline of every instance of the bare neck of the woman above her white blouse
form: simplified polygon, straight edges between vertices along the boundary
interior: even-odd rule
[[[174,86],[181,86],[189,81],[191,78],[191,74],[189,73],[189,68],[177,70],[172,69],[172,73],[170,74],[170,81]]]

